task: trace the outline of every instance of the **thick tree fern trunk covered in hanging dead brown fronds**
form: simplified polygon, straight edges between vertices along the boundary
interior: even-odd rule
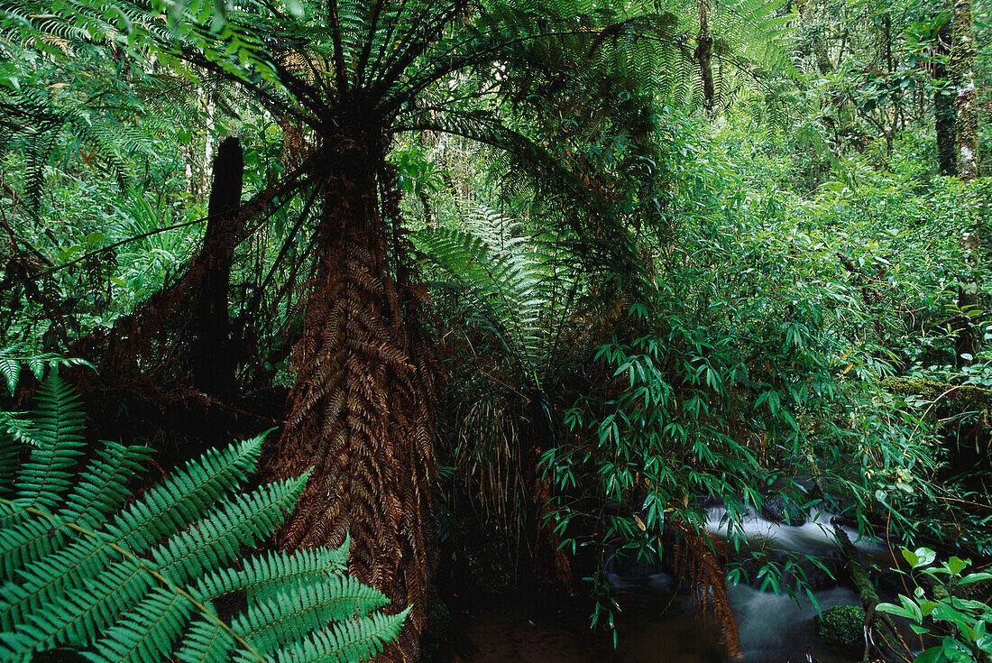
[[[379,188],[387,209],[396,200],[383,182],[384,141],[357,120],[339,125],[352,129],[325,143],[318,160],[327,168],[318,258],[273,459],[280,477],[313,471],[278,543],[340,545],[350,535],[351,572],[393,609],[414,606],[398,646],[380,660],[412,661],[432,572],[434,389],[411,332],[412,291],[397,282],[387,251]]]

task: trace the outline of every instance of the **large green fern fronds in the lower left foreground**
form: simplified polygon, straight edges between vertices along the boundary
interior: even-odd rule
[[[0,660],[67,646],[93,661],[356,661],[399,633],[407,611],[376,611],[388,600],[343,575],[347,541],[241,558],[307,480],[244,487],[264,436],[134,498],[151,450],[108,442],[83,461],[78,398],[55,370],[38,400],[27,460],[13,436],[0,447]],[[229,611],[232,595],[228,623],[215,601]]]

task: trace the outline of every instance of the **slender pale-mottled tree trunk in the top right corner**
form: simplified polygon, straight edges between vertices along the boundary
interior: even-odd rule
[[[971,0],[954,0],[950,45],[950,78],[956,97],[957,168],[962,179],[978,175],[978,118],[975,114],[975,29]]]

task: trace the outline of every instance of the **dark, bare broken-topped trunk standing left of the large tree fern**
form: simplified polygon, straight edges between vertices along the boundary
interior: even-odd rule
[[[203,237],[204,270],[194,306],[195,333],[190,348],[193,384],[208,394],[226,394],[234,387],[234,365],[228,339],[227,288],[238,235],[244,155],[237,138],[226,138],[213,161],[213,186]]]

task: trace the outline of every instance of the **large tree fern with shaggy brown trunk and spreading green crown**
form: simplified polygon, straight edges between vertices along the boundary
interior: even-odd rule
[[[655,2],[604,0],[99,0],[95,12],[81,0],[58,12],[41,0],[0,2],[16,7],[32,33],[48,30],[40,25],[48,19],[32,17],[57,13],[62,25],[53,30],[102,30],[128,43],[140,34],[150,57],[227,77],[308,128],[301,143],[321,166],[309,169],[313,223],[304,225],[312,235],[303,243],[312,249],[298,264],[312,270],[289,270],[279,288],[304,293],[296,299],[306,314],[275,454],[280,476],[318,469],[281,544],[336,543],[350,529],[363,579],[400,602],[422,600],[431,574],[424,525],[434,383],[386,148],[397,134],[430,131],[505,153],[505,176],[519,178],[533,214],[575,238],[570,257],[625,286],[643,282],[644,270],[631,266],[640,262],[636,229],[667,220],[664,105],[669,90],[685,87],[684,67],[671,63],[684,66],[692,51],[675,16]],[[492,72],[500,74],[494,84]],[[308,202],[301,224],[310,209]],[[493,263],[488,278],[529,288],[529,270],[541,262],[518,258]],[[294,290],[294,281],[307,285]],[[526,348],[556,343],[528,331],[539,314],[525,306],[526,293],[506,294],[496,302],[520,318],[502,316],[503,337],[525,348],[519,356],[537,382],[541,371]],[[327,495],[339,497],[332,508]],[[158,542],[146,544],[138,554]],[[65,564],[81,569],[103,554],[79,550]],[[416,655],[425,616],[415,608],[401,644],[406,660]],[[190,647],[204,657],[223,656],[202,649],[208,639],[196,642]]]

